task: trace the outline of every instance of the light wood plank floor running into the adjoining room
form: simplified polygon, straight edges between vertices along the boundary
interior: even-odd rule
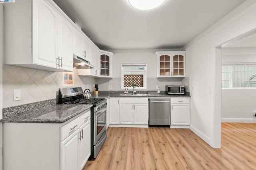
[[[222,148],[189,129],[109,127],[84,170],[256,169],[256,123],[222,123]]]

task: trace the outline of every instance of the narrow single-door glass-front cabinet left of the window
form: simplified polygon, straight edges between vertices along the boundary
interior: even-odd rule
[[[112,52],[100,50],[100,77],[112,77]]]

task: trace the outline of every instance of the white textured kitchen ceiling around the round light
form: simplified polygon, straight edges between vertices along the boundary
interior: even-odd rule
[[[128,0],[54,0],[100,49],[181,48],[245,0],[166,0],[137,10]]]

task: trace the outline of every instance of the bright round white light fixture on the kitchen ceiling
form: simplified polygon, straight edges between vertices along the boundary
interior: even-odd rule
[[[165,0],[128,0],[131,6],[138,10],[152,10],[164,3]]]

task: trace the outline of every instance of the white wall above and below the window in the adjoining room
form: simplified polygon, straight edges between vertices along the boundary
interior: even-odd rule
[[[222,63],[256,63],[256,48],[222,48]],[[222,122],[256,122],[256,89],[222,89]]]

